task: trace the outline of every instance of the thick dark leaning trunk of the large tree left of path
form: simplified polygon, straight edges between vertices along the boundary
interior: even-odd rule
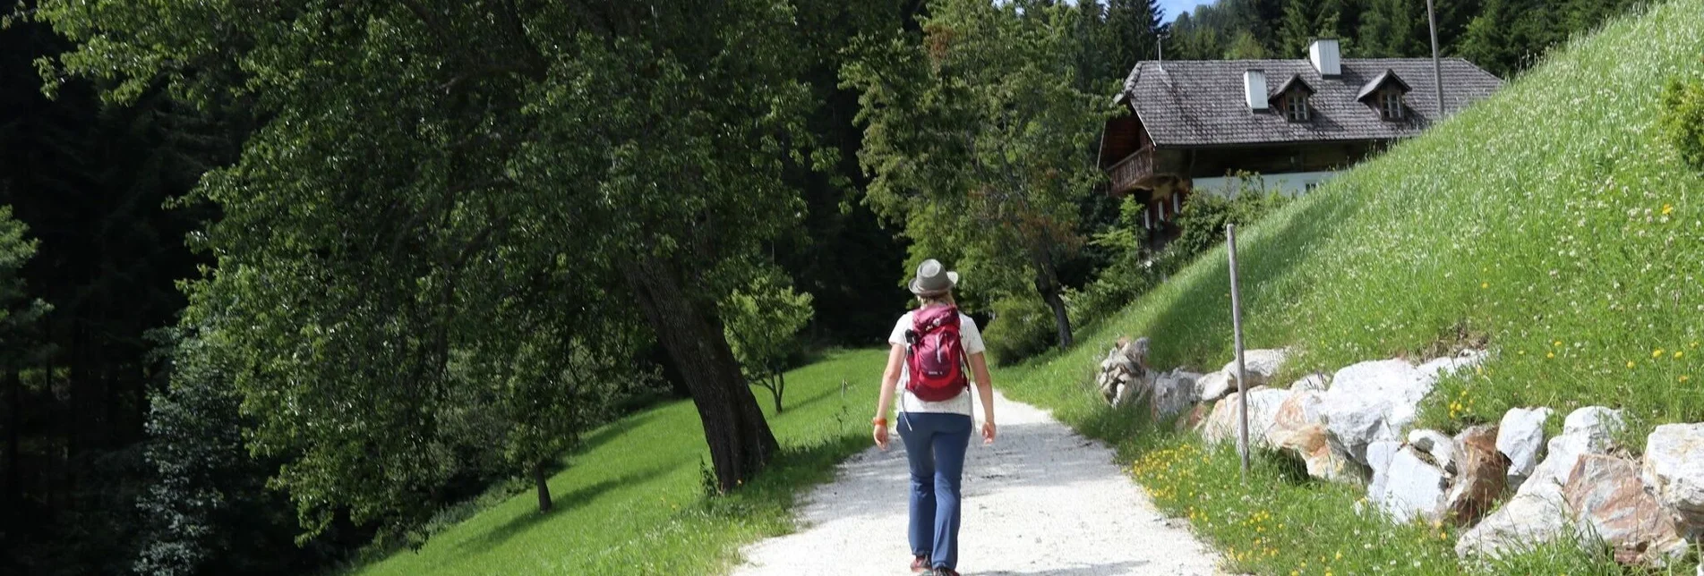
[[[699,407],[717,487],[734,489],[762,470],[779,445],[751,387],[740,377],[721,325],[704,312],[704,303],[682,290],[675,262],[644,254],[622,274]]]

